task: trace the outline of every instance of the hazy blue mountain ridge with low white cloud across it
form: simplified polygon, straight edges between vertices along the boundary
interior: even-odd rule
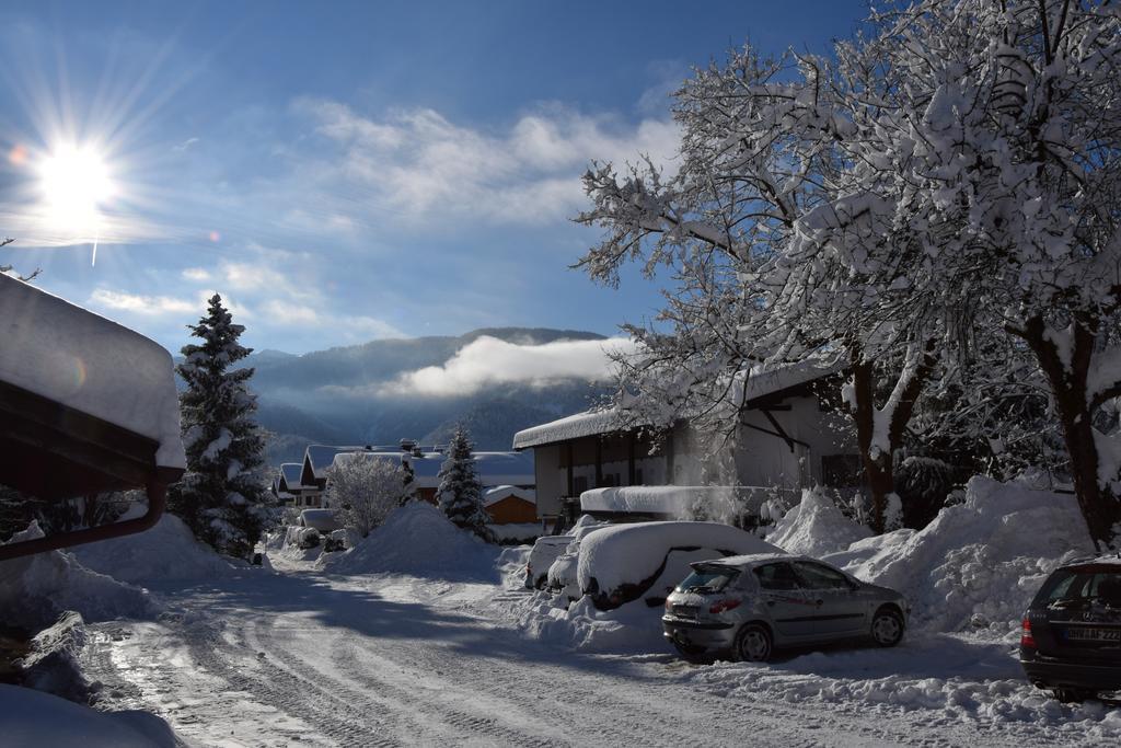
[[[304,355],[265,350],[256,369],[268,463],[297,461],[312,442],[446,441],[456,423],[479,449],[508,450],[515,432],[589,407],[604,395],[604,350],[628,341],[537,327],[376,340]]]

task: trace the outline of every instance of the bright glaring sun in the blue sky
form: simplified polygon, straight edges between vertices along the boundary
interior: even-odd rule
[[[44,155],[38,173],[44,206],[62,227],[95,221],[117,191],[105,158],[92,146],[58,145]]]

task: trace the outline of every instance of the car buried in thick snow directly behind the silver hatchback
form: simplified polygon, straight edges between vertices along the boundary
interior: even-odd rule
[[[600,610],[642,598],[660,606],[689,564],[719,556],[779,552],[770,543],[731,525],[651,521],[612,525],[580,544],[576,570],[582,594]]]

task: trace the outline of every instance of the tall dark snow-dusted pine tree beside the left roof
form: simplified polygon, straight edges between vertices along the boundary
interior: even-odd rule
[[[253,369],[230,370],[252,349],[238,342],[245,329],[233,324],[217,294],[188,330],[203,344],[184,345],[176,367],[187,385],[179,396],[187,472],[172,487],[169,508],[200,539],[248,558],[272,512],[257,474],[265,440],[253,418],[257,398],[245,386]]]

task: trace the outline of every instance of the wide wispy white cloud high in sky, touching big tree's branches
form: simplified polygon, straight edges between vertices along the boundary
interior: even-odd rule
[[[413,219],[569,219],[586,206],[581,176],[591,160],[621,164],[649,154],[673,170],[679,142],[669,119],[629,124],[556,104],[500,132],[456,124],[432,109],[371,119],[334,101],[302,99],[295,108],[340,148],[337,159],[319,157],[312,167],[321,188],[368,191],[368,206]]]

